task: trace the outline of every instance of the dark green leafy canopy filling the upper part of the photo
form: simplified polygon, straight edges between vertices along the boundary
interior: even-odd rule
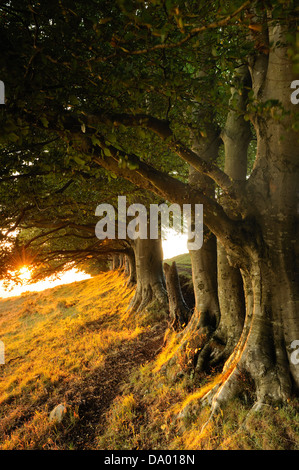
[[[12,0],[2,5],[4,227],[11,231],[24,211],[34,219],[36,214],[61,219],[59,207],[69,208],[69,202],[73,217],[80,185],[94,211],[92,185],[100,186],[98,199],[101,185],[106,191],[113,187],[113,199],[131,192],[123,178],[156,194],[164,180],[164,187],[186,182],[194,141],[205,140],[211,124],[220,133],[231,85],[242,93],[236,69],[266,47],[258,35],[266,28],[267,8],[274,22],[287,23],[295,60],[294,2],[256,2],[256,16],[250,4],[55,0],[24,6]],[[244,118],[285,116],[280,103],[255,103],[252,91],[248,96]],[[255,150],[253,144],[249,172]],[[202,168],[198,155],[192,157]],[[223,167],[223,155],[218,162]],[[209,171],[214,179],[215,172]],[[76,183],[57,196],[67,178]],[[219,185],[219,178],[215,181]],[[39,206],[49,198],[52,208],[42,214]],[[80,219],[84,211],[77,212]]]

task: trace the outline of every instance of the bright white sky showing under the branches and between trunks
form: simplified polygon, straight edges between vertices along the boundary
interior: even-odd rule
[[[174,230],[169,230],[169,233],[167,234],[167,240],[162,240],[162,247],[164,259],[173,258],[174,256],[181,255],[183,253],[188,253],[187,235],[178,234]],[[11,286],[8,289],[4,289],[3,283],[0,281],[0,299],[18,296],[23,292],[37,292],[61,284],[70,284],[71,282],[82,281],[84,279],[89,279],[90,275],[82,271],[78,271],[77,269],[71,269],[70,271],[61,275],[58,279],[49,278],[35,284],[27,285],[26,281],[30,278],[30,271],[24,268],[20,278],[23,281],[22,285]]]

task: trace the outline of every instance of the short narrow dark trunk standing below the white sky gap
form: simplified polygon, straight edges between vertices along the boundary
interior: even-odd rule
[[[169,301],[170,326],[175,331],[182,330],[188,323],[190,309],[183,297],[176,263],[164,263],[165,281]]]

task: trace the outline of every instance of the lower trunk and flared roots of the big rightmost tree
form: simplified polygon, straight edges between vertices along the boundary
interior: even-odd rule
[[[273,266],[258,258],[250,273],[244,273],[246,321],[223,369],[224,380],[211,393],[214,410],[242,392],[244,374],[254,382],[257,409],[286,401],[299,390],[298,366],[290,357],[290,346],[299,333],[298,300],[292,299],[294,288],[290,292],[288,283],[282,282],[285,267],[275,263],[274,273]]]

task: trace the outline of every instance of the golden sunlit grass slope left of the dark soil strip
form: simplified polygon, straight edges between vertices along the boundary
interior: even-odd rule
[[[0,366],[1,448],[31,448],[33,444],[22,442],[20,430],[9,437],[6,428],[22,419],[28,407],[45,401],[49,391],[92,374],[108,351],[140,334],[142,327],[128,321],[133,290],[126,288],[125,281],[109,272],[0,301],[0,339],[6,359]],[[41,430],[47,422],[42,418],[41,414]],[[35,416],[35,429],[36,420]],[[30,423],[33,426],[31,420],[26,426]]]

